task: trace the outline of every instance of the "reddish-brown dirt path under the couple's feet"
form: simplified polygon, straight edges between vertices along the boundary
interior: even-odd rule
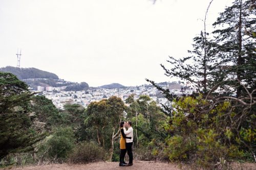
[[[44,166],[25,166],[18,168],[11,168],[12,170],[178,170],[178,166],[170,163],[154,162],[154,161],[137,161],[132,166],[119,166],[118,162],[94,162],[88,164],[52,164]]]

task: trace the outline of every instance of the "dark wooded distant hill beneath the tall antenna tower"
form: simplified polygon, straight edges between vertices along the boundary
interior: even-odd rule
[[[0,68],[0,71],[2,72],[11,72],[12,74],[16,75],[18,79],[54,79],[58,80],[58,76],[48,72],[43,71],[37,68],[18,68],[18,67],[2,67]]]

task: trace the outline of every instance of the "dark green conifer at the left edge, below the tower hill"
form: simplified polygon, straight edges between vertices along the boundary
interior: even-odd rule
[[[0,159],[9,153],[33,150],[44,138],[32,128],[28,85],[8,72],[0,72]]]

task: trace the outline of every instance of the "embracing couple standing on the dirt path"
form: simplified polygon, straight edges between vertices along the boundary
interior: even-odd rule
[[[127,128],[127,130],[126,130]],[[119,166],[131,166],[133,165],[133,152],[132,152],[132,145],[133,145],[133,128],[132,128],[132,122],[124,122],[122,121],[120,123],[120,132],[121,132],[121,138],[120,138],[120,162]],[[129,163],[124,162],[125,154],[129,155]]]

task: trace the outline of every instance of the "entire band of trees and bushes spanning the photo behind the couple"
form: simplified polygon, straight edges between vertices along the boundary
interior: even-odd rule
[[[117,161],[121,120],[133,122],[134,156],[140,160],[195,163],[203,169],[254,161],[255,6],[234,1],[214,23],[214,32],[204,28],[194,38],[188,57],[170,57],[169,68],[161,65],[168,77],[196,88],[193,94],[176,96],[147,80],[171,106],[160,108],[146,95],[137,100],[131,95],[125,103],[113,96],[87,109],[67,104],[58,110],[14,75],[0,72],[1,163]]]

